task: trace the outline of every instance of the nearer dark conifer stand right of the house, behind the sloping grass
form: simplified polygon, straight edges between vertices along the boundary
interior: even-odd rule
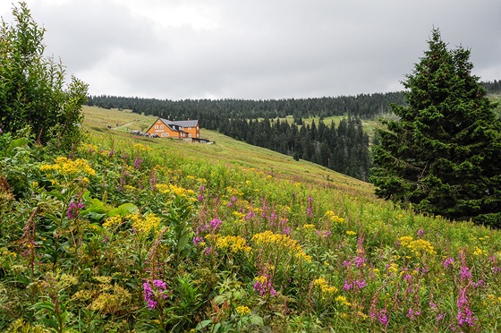
[[[344,175],[366,180],[369,175],[369,135],[362,130],[360,118],[344,118],[335,126],[289,124],[287,120],[227,119],[217,128],[234,139],[305,159]]]

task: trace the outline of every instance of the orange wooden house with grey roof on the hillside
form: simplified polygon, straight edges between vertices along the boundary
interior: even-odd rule
[[[200,139],[200,125],[198,120],[172,121],[157,118],[147,131],[149,135],[157,134],[160,138]]]

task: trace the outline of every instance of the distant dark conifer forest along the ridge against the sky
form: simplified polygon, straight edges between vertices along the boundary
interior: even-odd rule
[[[103,108],[124,108],[144,115],[166,119],[199,119],[204,126],[221,118],[296,118],[327,117],[332,115],[377,118],[389,111],[391,103],[402,104],[400,92],[360,94],[357,96],[284,99],[183,99],[125,98],[89,96],[88,105]],[[216,126],[210,126],[212,128]]]

